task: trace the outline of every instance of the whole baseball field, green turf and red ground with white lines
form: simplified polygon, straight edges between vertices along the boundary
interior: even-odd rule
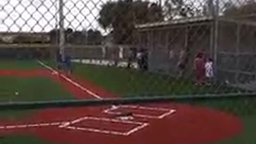
[[[0,102],[86,100],[225,93],[137,70],[76,63],[74,73],[49,61],[0,61]],[[0,143],[254,144],[256,97],[140,105],[1,110]],[[116,116],[132,112],[132,119]]]

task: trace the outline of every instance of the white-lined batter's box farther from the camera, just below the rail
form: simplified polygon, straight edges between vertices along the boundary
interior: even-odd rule
[[[170,116],[176,112],[175,109],[167,109],[167,108],[157,108],[157,107],[143,107],[143,106],[126,106],[126,105],[121,105],[121,106],[115,106],[108,108],[106,110],[103,110],[103,113],[110,114],[110,115],[122,115],[122,112],[114,111],[117,110],[118,108],[132,108],[132,109],[142,109],[142,110],[154,110],[154,111],[163,111],[165,113],[158,115],[158,116],[153,116],[153,115],[143,115],[143,114],[133,114],[134,117],[142,117],[142,118],[149,118],[149,119],[163,119],[167,116]]]

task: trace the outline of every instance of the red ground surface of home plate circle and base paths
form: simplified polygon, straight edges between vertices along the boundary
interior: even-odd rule
[[[79,78],[67,79],[48,70],[2,70],[0,75],[50,77],[77,99],[110,95],[92,83]],[[125,111],[132,111],[134,118],[115,117]],[[241,121],[233,115],[177,103],[47,109],[20,121],[0,123],[1,135],[31,133],[52,142],[70,144],[211,143],[234,137],[242,130]]]

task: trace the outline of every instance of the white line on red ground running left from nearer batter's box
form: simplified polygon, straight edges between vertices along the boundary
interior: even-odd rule
[[[0,130],[11,130],[11,129],[28,129],[35,127],[47,127],[47,126],[59,126],[67,122],[51,122],[51,123],[30,123],[30,124],[16,124],[16,125],[2,125]]]

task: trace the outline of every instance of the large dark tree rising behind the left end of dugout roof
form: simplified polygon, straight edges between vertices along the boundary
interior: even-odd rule
[[[135,25],[162,21],[162,8],[148,1],[119,0],[102,5],[98,22],[104,29],[112,29],[116,43],[131,43]]]

